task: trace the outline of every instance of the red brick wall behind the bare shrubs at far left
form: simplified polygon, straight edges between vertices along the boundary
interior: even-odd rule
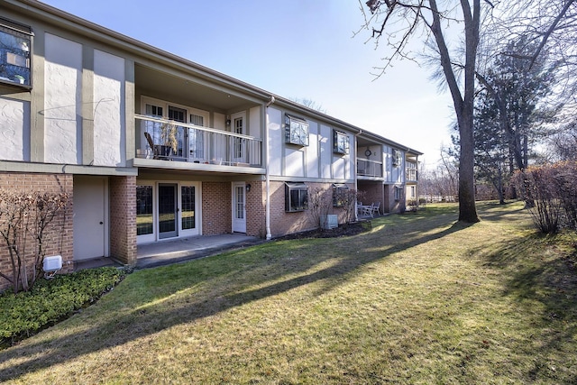
[[[47,243],[45,244],[46,255],[62,256],[63,271],[72,270],[73,258],[73,229],[72,223],[73,214],[73,179],[71,174],[33,174],[33,173],[16,173],[4,172],[0,173],[0,188],[12,192],[34,192],[46,191],[50,193],[65,192],[69,195],[69,205],[65,212],[54,218],[50,224],[50,231],[46,236]],[[33,243],[30,244],[32,252]],[[11,276],[12,268],[7,246],[5,246],[4,239],[0,239],[0,271],[3,274]],[[0,277],[0,290],[6,289],[10,286],[8,280]]]

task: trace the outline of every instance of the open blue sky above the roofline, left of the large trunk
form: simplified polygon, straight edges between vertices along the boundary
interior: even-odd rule
[[[449,144],[451,98],[429,69],[397,61],[375,79],[374,49],[356,0],[43,0],[279,96],[307,98],[326,114],[418,151],[435,167]],[[362,2],[364,4],[364,1]]]

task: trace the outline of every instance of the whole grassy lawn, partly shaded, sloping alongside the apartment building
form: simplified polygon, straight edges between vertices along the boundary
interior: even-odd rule
[[[575,234],[521,203],[372,221],[129,275],[0,351],[0,381],[577,383]]]

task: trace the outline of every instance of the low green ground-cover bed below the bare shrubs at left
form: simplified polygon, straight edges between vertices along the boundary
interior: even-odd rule
[[[39,332],[96,301],[124,279],[124,270],[105,267],[37,280],[30,291],[0,294],[0,349]]]

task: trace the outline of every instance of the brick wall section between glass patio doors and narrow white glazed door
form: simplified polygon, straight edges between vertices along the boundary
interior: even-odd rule
[[[203,235],[227,234],[233,231],[232,194],[231,182],[202,183]]]

